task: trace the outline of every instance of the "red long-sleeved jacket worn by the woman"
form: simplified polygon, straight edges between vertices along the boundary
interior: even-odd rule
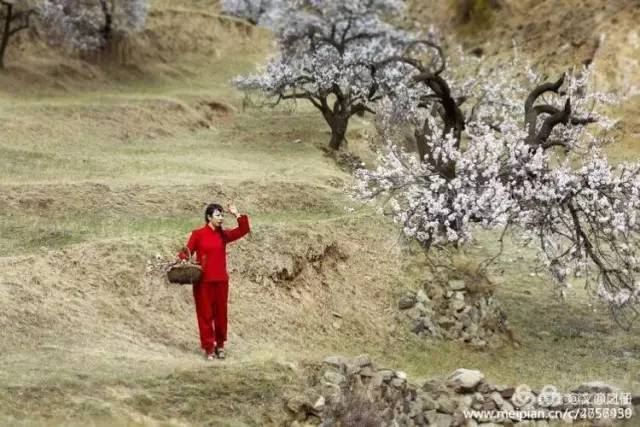
[[[237,219],[238,226],[236,228],[222,231],[227,237],[226,243],[238,240],[250,231],[249,217],[240,215]],[[209,224],[191,232],[187,247],[192,254],[196,253],[196,261],[202,266],[201,282],[229,280],[226,243],[222,240],[220,231],[214,231]],[[187,254],[182,251],[178,253],[178,257],[186,259]]]

